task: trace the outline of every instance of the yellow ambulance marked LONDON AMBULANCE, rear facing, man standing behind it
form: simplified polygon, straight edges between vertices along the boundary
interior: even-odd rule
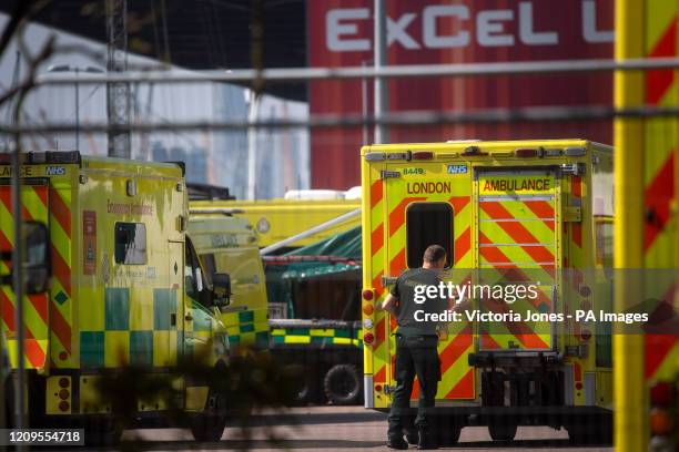
[[[440,440],[454,443],[472,424],[501,441],[524,424],[609,440],[610,331],[568,316],[610,308],[610,280],[597,269],[612,259],[611,147],[585,140],[378,144],[361,150],[361,166],[366,408],[387,410],[396,384],[396,322],[377,304],[438,244],[448,255],[444,280],[500,289],[523,281],[536,294],[514,302],[508,291],[482,290],[459,319],[445,320]]]

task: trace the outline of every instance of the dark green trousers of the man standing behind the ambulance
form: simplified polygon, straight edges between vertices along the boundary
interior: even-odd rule
[[[432,422],[436,400],[436,389],[440,380],[440,360],[438,359],[438,337],[396,335],[396,357],[394,377],[396,389],[392,399],[392,409],[387,418],[389,435],[403,434],[403,429],[412,430],[413,410],[411,394],[415,376],[419,382],[417,401],[417,430],[427,430]]]

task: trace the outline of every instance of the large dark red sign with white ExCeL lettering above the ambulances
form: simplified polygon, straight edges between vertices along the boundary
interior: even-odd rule
[[[614,0],[386,0],[387,63],[464,64],[612,58]],[[308,65],[372,64],[373,1],[307,2]],[[313,82],[311,114],[372,112],[372,81]],[[366,86],[367,85],[367,86]],[[366,89],[367,88],[367,89]],[[393,79],[389,111],[610,105],[612,74]],[[361,127],[313,130],[312,184],[359,184]],[[612,143],[608,120],[392,127],[391,142],[582,137]],[[368,142],[373,138],[369,131]]]

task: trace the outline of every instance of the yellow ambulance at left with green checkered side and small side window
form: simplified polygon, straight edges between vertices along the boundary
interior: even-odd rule
[[[186,235],[180,165],[28,153],[20,174],[26,341],[23,356],[17,356],[12,167],[2,157],[1,321],[11,369],[19,360],[27,369],[28,422],[84,427],[87,442],[114,440],[120,431],[111,408],[100,402],[98,376],[124,364],[166,373],[184,358],[205,353],[210,364],[225,363],[229,336],[217,314],[229,302],[229,276],[205,279]],[[221,438],[223,397],[200,382],[179,384],[185,394],[180,408],[194,412],[194,436]],[[139,401],[139,418],[169,409],[168,401]]]

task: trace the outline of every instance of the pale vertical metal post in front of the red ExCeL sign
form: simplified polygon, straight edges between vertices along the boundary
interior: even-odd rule
[[[386,65],[386,7],[385,0],[375,0],[373,13],[375,14],[375,69],[378,70]],[[375,119],[381,120],[385,112],[389,110],[388,81],[382,76],[375,78]],[[386,125],[375,124],[375,143],[387,143],[389,141],[389,130]]]

